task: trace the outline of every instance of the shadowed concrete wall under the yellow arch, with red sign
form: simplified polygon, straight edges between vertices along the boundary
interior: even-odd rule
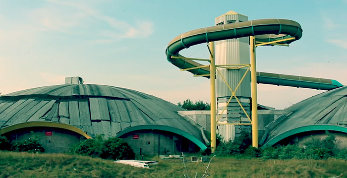
[[[46,131],[52,131],[52,135],[46,135]],[[37,139],[45,148],[45,153],[64,153],[71,145],[86,138],[70,130],[50,127],[28,127],[6,133],[10,141]]]

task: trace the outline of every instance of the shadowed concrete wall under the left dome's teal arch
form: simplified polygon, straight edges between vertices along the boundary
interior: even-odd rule
[[[138,135],[138,139],[134,139]],[[136,155],[168,155],[199,151],[199,147],[175,133],[161,130],[138,130],[122,135]],[[159,151],[158,151],[159,150]]]

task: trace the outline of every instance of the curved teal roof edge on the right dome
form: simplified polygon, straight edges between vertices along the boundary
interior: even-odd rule
[[[340,131],[347,133],[347,127],[342,127],[342,126],[337,126],[337,125],[326,125],[326,124],[321,124],[321,125],[307,125],[307,126],[302,126],[302,127],[297,127],[291,130],[288,130],[284,133],[281,133],[277,135],[276,137],[270,139],[267,141],[263,147],[268,147],[268,146],[273,146],[277,142],[291,136],[297,133],[301,132],[306,132],[306,131],[314,131],[314,130],[332,130],[332,131]]]

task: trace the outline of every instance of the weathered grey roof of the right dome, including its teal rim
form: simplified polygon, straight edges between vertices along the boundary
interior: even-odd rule
[[[311,130],[335,130],[347,133],[347,87],[333,89],[285,109],[287,115],[266,126],[262,140],[264,145],[300,132]]]

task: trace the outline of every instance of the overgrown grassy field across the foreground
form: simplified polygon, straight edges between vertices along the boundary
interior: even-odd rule
[[[183,178],[181,159],[160,160],[151,169],[110,160],[65,154],[0,152],[0,178]],[[190,178],[204,173],[208,163],[186,162]],[[329,178],[344,174],[344,160],[263,160],[216,157],[209,178]]]

